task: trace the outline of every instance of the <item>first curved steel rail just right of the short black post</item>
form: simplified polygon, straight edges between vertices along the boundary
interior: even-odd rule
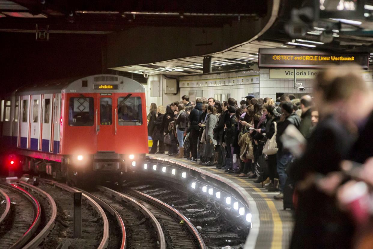
[[[63,183],[59,183],[57,181],[53,181],[53,180],[49,180],[49,179],[45,179],[45,178],[38,178],[40,181],[43,181],[45,183],[49,183],[51,185],[54,185],[54,186],[57,186],[63,190],[66,190],[68,192],[79,192],[79,190],[73,188],[73,187],[70,187],[66,184],[63,184]],[[100,205],[98,205],[97,202],[95,202],[91,197],[89,197],[87,194],[85,193],[82,193],[82,196],[88,200],[88,203],[90,203],[90,205],[97,211],[97,213],[102,217],[103,219],[103,224],[104,224],[104,231],[103,231],[103,236],[102,236],[102,240],[100,242],[100,245],[97,247],[98,249],[103,249],[103,248],[106,248],[107,245],[109,244],[109,221],[107,220],[107,217],[106,217],[106,214],[105,214],[105,211],[101,208]]]

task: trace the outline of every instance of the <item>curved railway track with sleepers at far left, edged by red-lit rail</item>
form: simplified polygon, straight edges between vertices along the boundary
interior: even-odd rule
[[[34,196],[16,184],[0,183],[0,188],[6,194],[6,202],[10,202],[9,209],[6,208],[7,213],[1,216],[4,225],[0,231],[0,249],[22,248],[37,231],[40,204]]]

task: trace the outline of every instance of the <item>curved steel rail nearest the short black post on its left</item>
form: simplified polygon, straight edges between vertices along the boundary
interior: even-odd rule
[[[19,182],[18,185],[21,185],[25,189],[30,189],[33,192],[36,192],[39,195],[43,196],[45,199],[48,200],[48,202],[50,203],[50,205],[52,207],[51,217],[50,217],[48,223],[43,228],[43,230],[41,230],[37,234],[37,236],[35,236],[34,239],[32,239],[29,243],[27,243],[25,246],[23,246],[23,249],[35,248],[38,245],[40,245],[41,242],[43,242],[43,240],[48,236],[48,234],[53,229],[53,227],[55,225],[56,218],[57,218],[57,205],[56,205],[56,202],[54,202],[54,199],[50,196],[50,194],[48,194],[44,190],[39,189],[38,187],[35,187],[35,186],[33,186],[31,184],[28,184],[28,183],[25,183],[23,181]]]

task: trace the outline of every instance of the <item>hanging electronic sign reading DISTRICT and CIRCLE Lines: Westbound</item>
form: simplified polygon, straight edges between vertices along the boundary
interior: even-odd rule
[[[259,49],[259,67],[264,68],[325,68],[355,63],[368,68],[369,53],[328,54],[305,49]]]

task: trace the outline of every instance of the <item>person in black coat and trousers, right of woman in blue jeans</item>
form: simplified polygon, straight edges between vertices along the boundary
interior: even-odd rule
[[[200,116],[202,114],[202,100],[197,98],[196,104],[189,114],[189,128],[186,130],[189,133],[190,150],[192,152],[192,162],[197,162],[197,146],[198,146],[198,135],[200,131]]]

